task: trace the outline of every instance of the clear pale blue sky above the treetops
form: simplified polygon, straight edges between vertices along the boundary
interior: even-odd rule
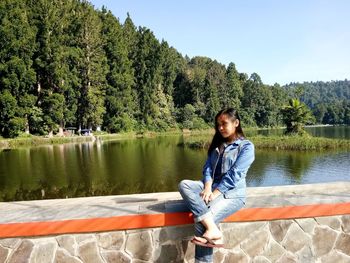
[[[207,56],[266,84],[350,79],[348,0],[91,0],[127,12],[183,56]]]

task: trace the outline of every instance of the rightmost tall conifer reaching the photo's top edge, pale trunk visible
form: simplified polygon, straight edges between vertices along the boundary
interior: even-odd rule
[[[78,68],[80,87],[78,98],[78,126],[98,128],[105,113],[107,59],[101,37],[102,23],[89,2],[83,1],[78,9],[79,49]]]

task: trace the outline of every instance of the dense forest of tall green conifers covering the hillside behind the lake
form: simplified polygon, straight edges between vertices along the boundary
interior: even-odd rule
[[[0,135],[204,129],[222,107],[244,126],[282,124],[299,98],[318,123],[350,124],[349,81],[291,83],[180,54],[152,31],[85,0],[1,0]]]

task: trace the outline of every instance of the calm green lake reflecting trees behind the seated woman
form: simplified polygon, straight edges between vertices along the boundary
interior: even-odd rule
[[[350,139],[350,127],[313,127],[315,136]],[[259,133],[278,134],[281,130]],[[249,133],[248,133],[249,135]],[[210,135],[207,135],[210,140]],[[0,151],[0,201],[177,191],[201,179],[205,150],[186,136],[95,141]],[[256,150],[248,186],[350,181],[350,152]]]

